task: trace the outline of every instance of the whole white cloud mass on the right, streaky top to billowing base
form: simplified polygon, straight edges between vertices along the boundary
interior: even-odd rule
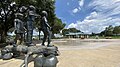
[[[68,28],[75,27],[85,33],[99,33],[109,25],[120,25],[120,0],[92,0],[88,7],[95,11],[83,21],[71,23]]]

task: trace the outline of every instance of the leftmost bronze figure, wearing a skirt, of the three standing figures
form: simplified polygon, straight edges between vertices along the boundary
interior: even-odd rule
[[[14,27],[15,27],[15,42],[16,45],[20,45],[23,42],[23,34],[24,34],[24,22],[22,21],[23,14],[16,13],[15,20],[14,20]]]

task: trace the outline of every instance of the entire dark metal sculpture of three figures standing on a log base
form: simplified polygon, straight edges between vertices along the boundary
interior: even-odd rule
[[[23,35],[25,34],[25,26],[23,20],[23,14],[16,13],[16,18],[14,20],[15,25],[15,42],[10,45],[4,47],[1,50],[0,58],[3,60],[9,60],[18,56],[21,56],[21,53],[24,54],[25,59],[24,62],[20,65],[20,67],[28,67],[28,59],[31,55],[36,54],[34,57],[34,67],[56,67],[58,63],[58,59],[56,56],[59,55],[58,48],[56,46],[50,45],[51,41],[51,27],[47,21],[47,12],[42,11],[42,20],[41,27],[44,33],[44,39],[42,45],[36,46],[32,43],[33,36],[33,22],[35,20],[35,7],[29,6],[28,8],[28,19],[26,23],[27,29],[27,38],[26,43],[22,43],[24,41]],[[45,46],[45,41],[48,37],[48,45]],[[20,41],[18,43],[18,40]],[[21,45],[22,44],[22,45]],[[44,45],[44,46],[43,46]]]

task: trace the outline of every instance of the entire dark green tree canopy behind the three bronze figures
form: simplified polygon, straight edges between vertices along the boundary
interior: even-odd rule
[[[15,13],[20,12],[23,6],[26,8],[24,12],[22,12],[25,16],[30,5],[35,6],[37,15],[41,15],[43,10],[47,11],[48,22],[53,28],[53,32],[58,33],[65,27],[65,24],[56,17],[54,4],[55,0],[0,0],[0,32],[2,41],[5,41],[8,30],[14,27]],[[26,21],[25,18],[24,22]],[[40,28],[40,16],[35,22],[35,27]]]

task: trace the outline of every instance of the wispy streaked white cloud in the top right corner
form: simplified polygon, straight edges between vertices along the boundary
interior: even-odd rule
[[[102,13],[106,13],[106,16],[111,16],[120,13],[120,0],[93,0],[89,4],[90,7]]]

